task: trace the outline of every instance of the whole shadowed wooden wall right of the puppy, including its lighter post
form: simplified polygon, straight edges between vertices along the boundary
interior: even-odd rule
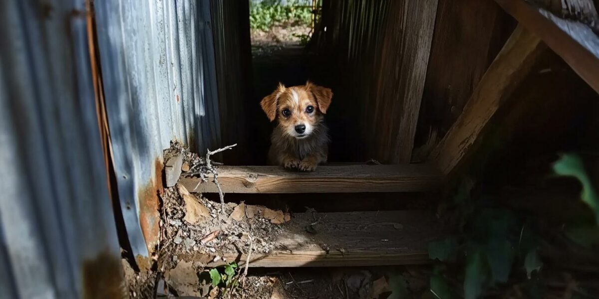
[[[410,162],[437,2],[323,1],[310,63],[335,94],[329,159]]]

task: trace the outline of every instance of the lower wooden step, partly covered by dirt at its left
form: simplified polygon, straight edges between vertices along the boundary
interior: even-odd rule
[[[252,254],[250,267],[335,267],[428,264],[428,242],[443,230],[426,211],[317,213],[316,234],[305,227],[312,213],[294,214],[269,254]],[[224,254],[244,264],[246,255]],[[219,266],[222,261],[210,264]]]

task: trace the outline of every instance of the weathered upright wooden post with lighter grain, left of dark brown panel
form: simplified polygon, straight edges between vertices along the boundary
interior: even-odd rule
[[[390,39],[391,47],[386,47],[383,56],[391,58],[396,53],[395,63],[383,63],[380,71],[380,84],[382,86],[395,86],[385,89],[391,91],[388,96],[391,99],[397,97],[394,102],[401,103],[400,114],[395,114],[395,109],[388,111],[391,119],[399,116],[399,127],[389,127],[388,123],[379,123],[381,132],[389,132],[388,147],[382,145],[383,151],[390,149],[385,154],[386,159],[395,164],[408,164],[412,160],[412,149],[414,147],[414,136],[418,125],[420,102],[428,68],[428,57],[431,53],[432,33],[435,27],[435,15],[437,14],[437,0],[418,1],[395,1],[394,5],[401,5],[405,10],[401,16],[392,15],[388,25],[386,36]],[[416,13],[418,12],[418,13]],[[413,47],[406,47],[413,45]],[[386,52],[386,53],[385,53]],[[391,58],[391,60],[394,60]],[[391,112],[391,113],[389,113]],[[395,129],[395,130],[393,130]]]

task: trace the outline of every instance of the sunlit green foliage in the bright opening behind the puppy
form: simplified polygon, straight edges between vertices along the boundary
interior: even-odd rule
[[[262,1],[258,4],[250,1],[250,28],[268,31],[276,25],[310,26],[312,11],[308,6],[299,6],[298,1]]]

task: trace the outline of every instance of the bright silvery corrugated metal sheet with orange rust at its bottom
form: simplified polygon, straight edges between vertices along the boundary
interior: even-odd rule
[[[220,146],[208,1],[95,2],[114,169],[134,255],[158,242],[162,150]]]

